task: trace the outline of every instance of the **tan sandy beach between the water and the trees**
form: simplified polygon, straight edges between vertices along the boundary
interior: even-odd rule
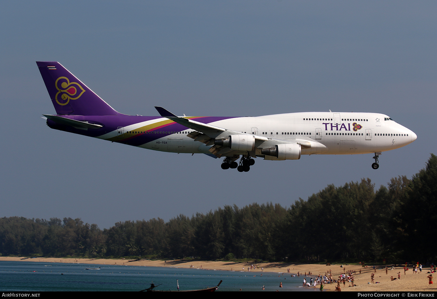
[[[235,262],[222,262],[222,261],[180,261],[180,260],[172,260],[172,261],[132,261],[122,259],[87,259],[87,258],[54,258],[54,257],[38,257],[38,258],[28,258],[24,259],[23,257],[0,257],[0,261],[35,261],[35,262],[45,262],[45,263],[83,263],[83,264],[127,264],[133,266],[152,266],[152,267],[179,267],[179,268],[190,268],[192,265],[194,268],[203,268],[203,269],[216,269],[216,270],[234,270],[234,271],[247,271],[248,267],[252,263],[235,263]],[[312,277],[316,277],[317,275],[325,275],[325,273],[329,273],[331,270],[332,276],[334,279],[338,278],[338,275],[342,274],[343,271],[356,271],[354,277],[356,286],[350,286],[350,283],[347,282],[345,286],[341,284],[341,291],[348,292],[375,292],[375,291],[427,291],[427,292],[435,292],[437,290],[437,283],[430,285],[428,283],[427,272],[430,271],[430,268],[423,268],[422,273],[413,274],[411,268],[409,271],[406,271],[404,275],[403,268],[395,268],[395,270],[388,270],[388,274],[385,273],[384,269],[381,269],[382,266],[378,266],[375,273],[375,282],[378,283],[370,283],[371,282],[371,273],[373,273],[373,268],[362,268],[358,265],[343,265],[340,267],[340,264],[335,265],[320,265],[320,264],[291,264],[291,263],[258,263],[253,264],[254,268],[250,270],[250,273],[253,275],[261,275],[262,270],[264,268],[264,272],[274,272],[279,273],[283,272],[285,275],[297,274],[298,272],[301,274],[301,278],[303,280],[305,276],[305,272],[312,273]],[[290,274],[287,273],[287,269],[290,268]],[[361,274],[359,274],[359,270],[361,268]],[[390,268],[391,269],[391,268]],[[401,279],[391,281],[391,277],[398,277],[398,272],[401,272]],[[437,277],[436,275],[433,275]],[[325,285],[324,291],[333,292],[336,284],[333,285]],[[318,291],[318,289],[317,289]]]

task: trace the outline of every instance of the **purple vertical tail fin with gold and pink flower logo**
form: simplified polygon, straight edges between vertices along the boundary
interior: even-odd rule
[[[58,115],[119,114],[58,62],[37,61]]]

